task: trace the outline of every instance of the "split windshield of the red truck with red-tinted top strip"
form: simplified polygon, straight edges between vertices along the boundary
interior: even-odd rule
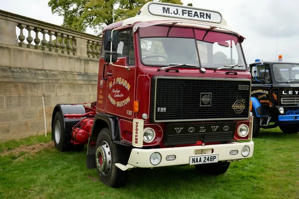
[[[239,38],[233,34],[172,26],[140,28],[141,61],[146,66],[188,64],[204,68],[244,65]],[[227,70],[232,70],[228,68]]]

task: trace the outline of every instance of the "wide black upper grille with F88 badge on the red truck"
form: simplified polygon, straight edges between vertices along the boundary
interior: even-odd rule
[[[249,118],[250,80],[153,77],[152,85],[154,122]],[[211,98],[204,104],[206,95]],[[240,100],[245,108],[233,109]]]

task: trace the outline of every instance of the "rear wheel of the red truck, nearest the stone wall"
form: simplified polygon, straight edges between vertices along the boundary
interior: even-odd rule
[[[58,111],[55,114],[52,133],[54,133],[54,144],[58,151],[71,151],[73,144],[71,143],[71,136],[65,135],[64,122],[61,113]]]

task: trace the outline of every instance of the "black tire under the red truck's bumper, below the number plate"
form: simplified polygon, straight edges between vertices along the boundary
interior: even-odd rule
[[[194,166],[199,173],[218,176],[224,174],[228,170],[229,165],[230,162],[217,162],[217,163],[194,165]]]

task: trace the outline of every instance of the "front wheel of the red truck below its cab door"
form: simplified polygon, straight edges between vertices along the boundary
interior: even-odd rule
[[[106,158],[103,158],[105,156]],[[98,135],[96,145],[96,165],[100,181],[113,188],[125,186],[128,172],[120,170],[115,164],[126,165],[127,157],[128,152],[111,140],[109,128],[103,128]]]

